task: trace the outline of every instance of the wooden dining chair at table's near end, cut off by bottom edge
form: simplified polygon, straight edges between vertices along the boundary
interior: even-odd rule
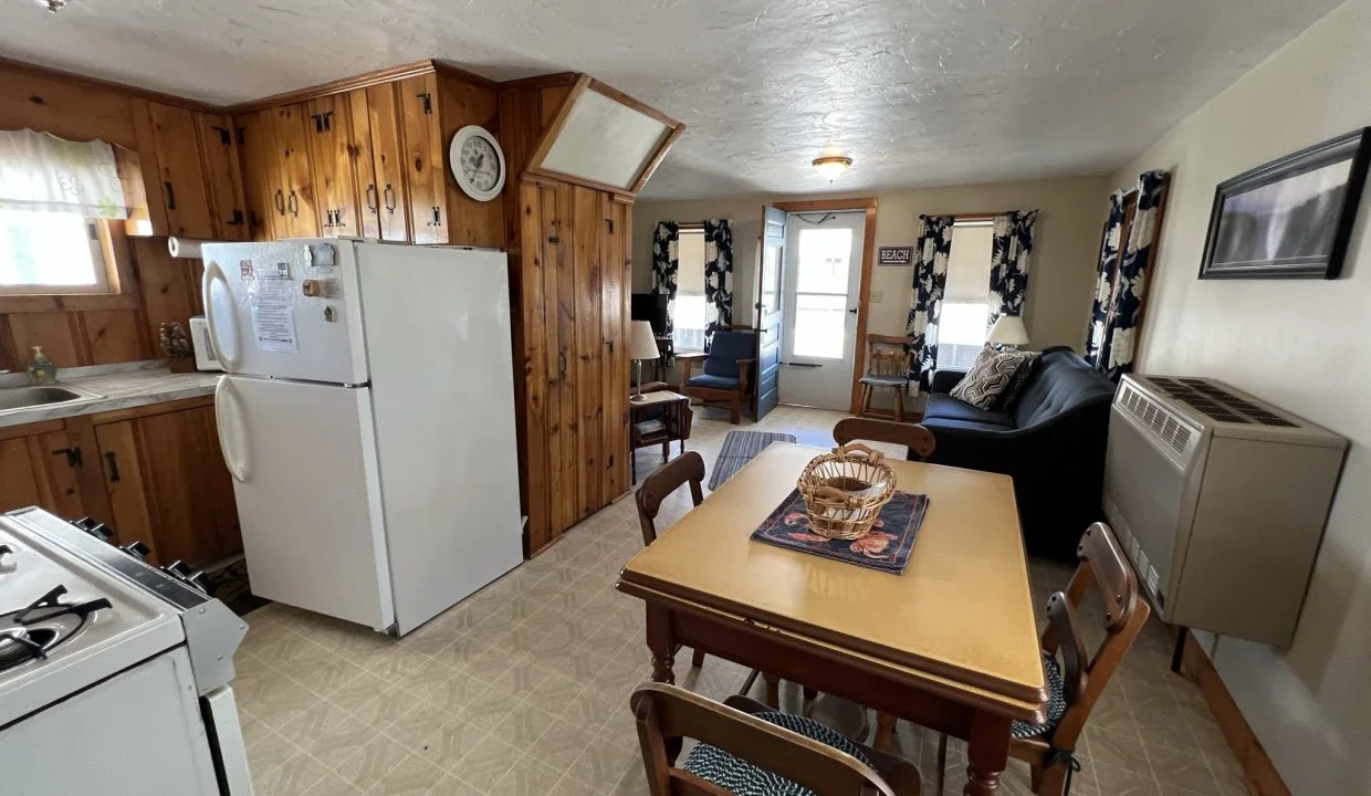
[[[699,766],[701,758],[688,758],[686,767],[676,766],[673,749],[680,748],[680,738],[695,738],[824,796],[919,796],[921,791],[913,763],[851,744],[872,762],[866,766],[835,745],[760,718],[771,708],[746,697],[731,696],[720,704],[683,688],[648,682],[633,692],[629,706],[638,721],[638,741],[653,796],[729,793],[690,770],[692,762]],[[817,736],[831,733],[809,719],[775,714],[772,718],[801,730],[818,727],[813,733]]]

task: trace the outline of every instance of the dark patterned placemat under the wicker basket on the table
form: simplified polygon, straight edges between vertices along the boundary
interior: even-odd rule
[[[799,489],[792,489],[753,532],[753,538],[898,575],[909,563],[909,552],[927,510],[927,495],[895,492],[882,507],[871,533],[857,540],[828,538],[810,530],[805,497]]]

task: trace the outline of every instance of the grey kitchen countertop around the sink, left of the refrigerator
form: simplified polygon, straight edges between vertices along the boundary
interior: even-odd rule
[[[163,360],[125,362],[58,371],[58,386],[71,386],[100,397],[0,411],[0,427],[93,415],[214,393],[218,373],[171,373]],[[0,389],[29,386],[27,373],[0,374]]]

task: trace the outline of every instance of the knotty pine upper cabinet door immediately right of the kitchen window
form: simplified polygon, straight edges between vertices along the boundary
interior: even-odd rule
[[[148,103],[167,234],[210,238],[214,237],[214,223],[204,192],[195,115],[186,108]]]

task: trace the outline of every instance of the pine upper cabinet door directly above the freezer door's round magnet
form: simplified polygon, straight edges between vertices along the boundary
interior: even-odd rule
[[[325,237],[356,237],[362,234],[362,218],[347,97],[333,95],[310,100],[306,114],[319,229]]]

